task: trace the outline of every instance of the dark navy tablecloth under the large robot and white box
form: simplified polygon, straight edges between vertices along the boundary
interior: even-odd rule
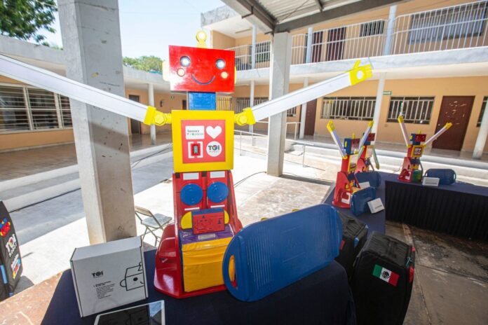
[[[355,324],[347,275],[337,262],[254,303],[233,298],[228,291],[185,299],[154,289],[154,256],[144,253],[149,298],[130,307],[165,300],[166,324]],[[115,310],[122,309],[118,307]],[[71,270],[60,277],[42,324],[90,324],[95,315],[80,318]]]

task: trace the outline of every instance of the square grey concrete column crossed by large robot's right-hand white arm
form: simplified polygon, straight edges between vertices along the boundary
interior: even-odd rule
[[[285,95],[290,83],[292,63],[292,36],[276,33],[271,42],[271,67],[269,69],[269,99]],[[290,108],[290,107],[287,107]],[[269,118],[267,172],[273,176],[283,174],[285,158],[286,111]]]

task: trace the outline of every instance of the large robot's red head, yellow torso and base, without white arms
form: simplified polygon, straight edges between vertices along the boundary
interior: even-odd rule
[[[224,290],[222,258],[241,228],[233,191],[233,124],[252,124],[252,113],[216,111],[216,92],[233,92],[234,53],[170,46],[163,74],[172,91],[188,92],[189,109],[166,113],[172,124],[175,223],[156,253],[154,286],[177,298]]]

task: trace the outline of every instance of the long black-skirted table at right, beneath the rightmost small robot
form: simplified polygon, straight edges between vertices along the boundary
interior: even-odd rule
[[[488,240],[488,188],[456,182],[438,187],[386,182],[386,219],[472,240]]]

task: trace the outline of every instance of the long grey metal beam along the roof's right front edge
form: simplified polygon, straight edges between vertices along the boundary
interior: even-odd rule
[[[224,0],[224,2],[226,1]],[[391,4],[395,4],[398,2],[402,2],[402,1],[362,0],[362,1],[355,2],[353,4],[347,4],[344,6],[332,8],[330,10],[325,10],[320,13],[314,13],[313,15],[309,15],[303,18],[298,18],[296,20],[290,20],[289,22],[282,22],[276,25],[273,32],[275,33],[291,32],[293,29],[316,25],[320,22],[325,22],[326,20],[334,20],[334,19],[342,18],[346,15],[352,15],[354,13],[359,13],[361,11],[369,11],[383,6],[390,6]]]

